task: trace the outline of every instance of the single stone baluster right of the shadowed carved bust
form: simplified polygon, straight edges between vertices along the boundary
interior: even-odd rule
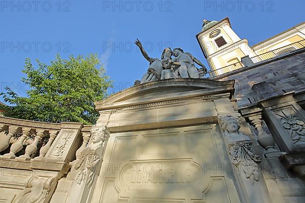
[[[258,144],[262,146],[265,150],[266,153],[271,153],[271,152],[276,152],[275,150],[275,141],[273,140],[272,136],[270,134],[266,133],[265,130],[263,129],[262,126],[262,117],[259,116],[254,116],[254,117],[249,117],[251,124],[257,129],[258,131]]]

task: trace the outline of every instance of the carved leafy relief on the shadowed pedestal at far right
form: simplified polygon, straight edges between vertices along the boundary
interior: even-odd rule
[[[295,115],[292,109],[281,110],[281,113],[276,114],[281,117],[281,124],[288,130],[293,143],[305,142],[304,122]]]

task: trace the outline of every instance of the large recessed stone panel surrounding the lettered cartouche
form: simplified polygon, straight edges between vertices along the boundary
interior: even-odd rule
[[[112,133],[92,202],[240,202],[223,150],[212,125]]]

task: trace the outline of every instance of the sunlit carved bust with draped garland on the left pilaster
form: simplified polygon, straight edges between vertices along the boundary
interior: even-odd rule
[[[93,128],[90,130],[92,136],[92,143],[85,147],[81,152],[81,157],[74,165],[74,168],[78,170],[76,176],[76,183],[81,184],[86,179],[86,185],[90,187],[94,180],[96,165],[100,162],[103,153],[103,147],[107,134],[105,133],[105,127]]]

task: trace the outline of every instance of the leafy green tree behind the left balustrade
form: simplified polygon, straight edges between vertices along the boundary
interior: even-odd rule
[[[25,59],[21,81],[29,86],[27,96],[21,97],[6,87],[0,93],[12,106],[4,107],[4,116],[41,122],[81,122],[94,124],[99,116],[94,101],[108,96],[112,81],[96,54],[87,57],[71,55],[50,65],[36,60],[36,69],[29,58]]]

